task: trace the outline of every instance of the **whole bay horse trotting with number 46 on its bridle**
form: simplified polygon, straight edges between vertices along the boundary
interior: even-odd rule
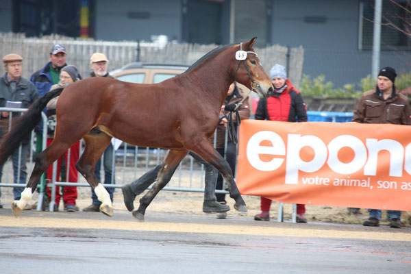
[[[0,165],[4,164],[21,140],[38,124],[41,111],[53,97],[57,103],[57,126],[53,142],[38,154],[32,175],[21,199],[12,202],[20,214],[42,173],[71,145],[84,139],[85,149],[76,164],[101,201],[100,211],[112,216],[112,202],[94,169],[112,137],[142,147],[169,149],[153,187],[140,199],[133,216],[144,221],[147,206],[166,186],[188,151],[197,153],[216,167],[225,178],[236,210],[247,212],[245,201],[234,181],[232,170],[212,147],[209,138],[219,121],[219,111],[229,85],[236,81],[269,97],[273,86],[257,54],[256,37],[240,44],[213,49],[181,75],[158,84],[132,84],[107,77],[90,77],[47,92],[21,116],[0,143]],[[97,127],[99,130],[92,130]]]

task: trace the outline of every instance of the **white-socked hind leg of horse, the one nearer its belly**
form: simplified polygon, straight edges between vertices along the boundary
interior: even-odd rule
[[[104,150],[110,144],[111,137],[104,132],[92,130],[89,134],[83,137],[86,143],[86,148],[75,167],[86,178],[88,184],[95,190],[97,199],[101,201],[100,212],[107,215],[113,215],[113,206],[110,195],[104,186],[97,180],[95,175],[95,166],[97,161],[103,155]]]

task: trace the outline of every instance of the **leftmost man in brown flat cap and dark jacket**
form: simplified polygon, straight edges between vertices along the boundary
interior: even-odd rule
[[[1,108],[28,108],[37,98],[38,91],[32,82],[21,77],[23,71],[23,58],[15,53],[5,55],[3,64],[5,75],[0,77],[0,107]],[[12,116],[20,115],[20,112],[14,112]],[[10,112],[3,111],[0,114],[0,119],[7,121]],[[5,130],[1,129],[0,138],[5,134]],[[14,184],[25,184],[27,178],[26,160],[29,151],[29,138],[24,140],[21,145],[21,155],[19,156],[18,149],[12,154]],[[18,161],[20,159],[20,162]],[[20,169],[18,165],[20,164]],[[0,181],[3,175],[3,166],[0,166]],[[14,200],[21,198],[21,192],[24,188],[13,188]],[[1,197],[1,191],[0,191]],[[0,203],[0,208],[3,206]],[[29,206],[27,209],[31,209]],[[25,209],[26,209],[25,208]]]

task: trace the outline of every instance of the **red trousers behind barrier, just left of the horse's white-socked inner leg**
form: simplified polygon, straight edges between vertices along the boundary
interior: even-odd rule
[[[47,147],[49,147],[52,141],[53,141],[53,138],[47,138]],[[64,157],[64,161],[66,162],[66,174],[67,173],[69,174],[68,182],[77,183],[78,171],[77,169],[75,169],[75,164],[79,160],[80,142],[75,142],[75,144],[71,147],[69,164],[67,162],[68,152],[69,151],[64,152],[64,154],[57,160],[57,175],[55,177],[55,180],[57,182],[60,182],[60,173],[62,171],[62,159]],[[69,168],[67,168],[67,166],[69,166]],[[50,180],[49,182],[51,182],[52,177],[53,177],[53,164],[51,164],[51,166],[49,166],[49,169],[47,169],[47,179]],[[66,178],[64,178],[64,182],[67,182]],[[47,195],[51,197],[51,188],[47,188]],[[77,199],[77,186],[64,186],[63,195],[60,193],[60,187],[55,186],[55,204],[58,205],[60,203],[60,199],[62,196],[63,196],[64,204],[71,203],[75,205],[75,200]]]

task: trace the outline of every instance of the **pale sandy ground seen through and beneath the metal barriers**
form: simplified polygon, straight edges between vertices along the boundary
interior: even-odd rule
[[[156,162],[158,162],[159,158],[162,158],[163,155],[158,155],[157,159],[153,158],[150,162],[150,166],[155,166]],[[145,163],[143,162],[144,158],[139,158],[138,164],[123,164],[122,162],[116,163],[116,184],[122,185],[132,182],[134,179],[137,179],[142,174],[145,173],[146,167]],[[174,187],[174,188],[197,188],[203,189],[203,170],[199,168],[199,164],[196,165],[196,162],[192,160],[192,158],[187,157],[183,161],[184,165],[182,169],[177,169],[175,174],[171,178],[171,181],[167,185],[167,187]],[[190,170],[189,166],[193,166]],[[194,163],[194,164],[193,164]],[[28,170],[31,171],[32,167],[28,166]],[[10,161],[5,165],[5,169],[3,169],[3,179],[5,182],[12,181],[10,175],[12,174],[12,167]],[[103,176],[103,174],[102,174]],[[80,183],[86,183],[84,177],[79,176]],[[86,208],[92,202],[91,200],[91,188],[89,186],[86,187],[78,187],[78,197],[77,197],[77,206],[79,206],[80,210],[82,208]],[[3,187],[1,188],[1,198],[0,201],[3,203],[4,208],[10,208],[12,203],[12,188],[10,187]],[[142,193],[144,194],[144,193]],[[136,197],[134,202],[134,206],[138,207],[138,200],[140,199],[141,195]],[[228,205],[232,208],[229,212],[227,212],[227,217],[230,216],[240,216],[240,218],[248,218],[253,219],[255,214],[260,213],[260,197],[253,197],[253,196],[244,196],[245,202],[247,203],[248,213],[247,214],[239,214],[234,210],[234,200],[230,199],[228,195],[226,196],[226,200]],[[38,193],[35,192],[32,201],[29,204],[36,202],[38,199]],[[182,191],[170,191],[170,190],[162,190],[160,193],[155,197],[153,202],[147,208],[146,214],[149,212],[158,212],[158,213],[168,213],[172,212],[174,214],[183,214],[183,215],[203,215],[205,213],[202,212],[202,204],[203,204],[203,193],[202,192],[182,192]],[[116,188],[114,192],[114,211],[115,210],[124,210],[127,209],[123,203],[123,195],[121,193],[121,189]],[[277,220],[277,211],[278,211],[279,203],[273,201],[271,205],[270,216],[272,221]],[[60,202],[60,210],[63,210],[62,201]],[[347,212],[347,208],[341,207],[331,207],[331,206],[313,206],[307,205],[306,206],[306,218],[308,222],[324,222],[324,223],[341,223],[341,224],[361,224],[366,220],[369,216],[366,209],[361,210],[362,214],[360,215],[349,215]],[[292,219],[292,204],[286,203],[284,204],[284,221],[290,221]],[[381,225],[388,225],[389,221],[386,219],[386,211],[383,211],[382,220],[380,220]],[[401,215],[401,223],[403,226],[411,227],[411,212],[403,212]]]

